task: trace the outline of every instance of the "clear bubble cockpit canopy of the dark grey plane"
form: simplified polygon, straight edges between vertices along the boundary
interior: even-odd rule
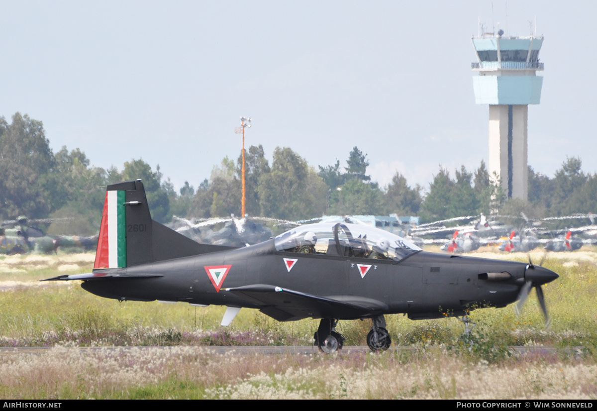
[[[276,251],[402,260],[421,249],[398,235],[367,225],[303,225],[275,238]]]

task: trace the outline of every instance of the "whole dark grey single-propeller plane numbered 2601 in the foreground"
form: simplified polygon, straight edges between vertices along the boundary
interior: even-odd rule
[[[384,315],[412,320],[463,316],[475,304],[521,304],[558,278],[528,263],[423,251],[367,225],[317,223],[253,246],[199,244],[152,220],[141,180],[107,186],[93,272],[47,280],[82,280],[82,288],[121,301],[225,305],[227,326],[243,308],[278,321],[321,318],[315,345],[341,349],[339,320],[370,318],[367,344],[389,348]]]

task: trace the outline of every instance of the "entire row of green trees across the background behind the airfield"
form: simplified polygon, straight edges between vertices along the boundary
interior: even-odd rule
[[[341,167],[307,164],[290,148],[276,148],[272,163],[263,147],[245,152],[247,213],[251,216],[300,220],[322,214],[418,215],[423,221],[479,213],[525,211],[529,216],[561,216],[597,210],[597,176],[581,171],[578,158],[568,158],[555,177],[529,169],[529,201],[506,201],[490,183],[484,162],[473,173],[464,166],[454,178],[440,166],[426,193],[411,187],[400,173],[384,188],[367,175],[367,155],[353,148]],[[71,217],[62,223],[70,234],[93,234],[99,228],[105,186],[142,179],[154,219],[223,217],[241,213],[241,156],[224,158],[198,188],[188,182],[179,192],[161,170],[143,160],[125,162],[122,171],[90,165],[79,149],[54,153],[41,121],[15,114],[11,124],[0,118],[0,217],[14,219]],[[73,219],[72,217],[76,217]],[[57,228],[58,229],[58,228]],[[55,234],[61,234],[56,232]],[[64,233],[67,234],[67,233]]]

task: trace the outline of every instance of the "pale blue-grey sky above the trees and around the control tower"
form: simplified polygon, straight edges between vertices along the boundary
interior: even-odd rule
[[[346,165],[356,145],[381,186],[395,171],[426,188],[439,164],[472,171],[488,160],[488,106],[475,105],[470,69],[480,19],[506,35],[536,20],[545,38],[529,164],[552,176],[574,156],[597,171],[595,2],[0,5],[0,115],[43,121],[54,151],[78,147],[98,167],[143,158],[196,187],[238,158],[244,115],[246,146],[263,145],[270,164],[288,146],[315,168]]]

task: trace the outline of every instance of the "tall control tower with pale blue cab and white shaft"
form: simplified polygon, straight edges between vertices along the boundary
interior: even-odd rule
[[[489,173],[499,177],[508,198],[528,199],[528,105],[539,104],[543,70],[539,50],[543,36],[473,37],[477,61],[472,63],[477,104],[489,105]]]

